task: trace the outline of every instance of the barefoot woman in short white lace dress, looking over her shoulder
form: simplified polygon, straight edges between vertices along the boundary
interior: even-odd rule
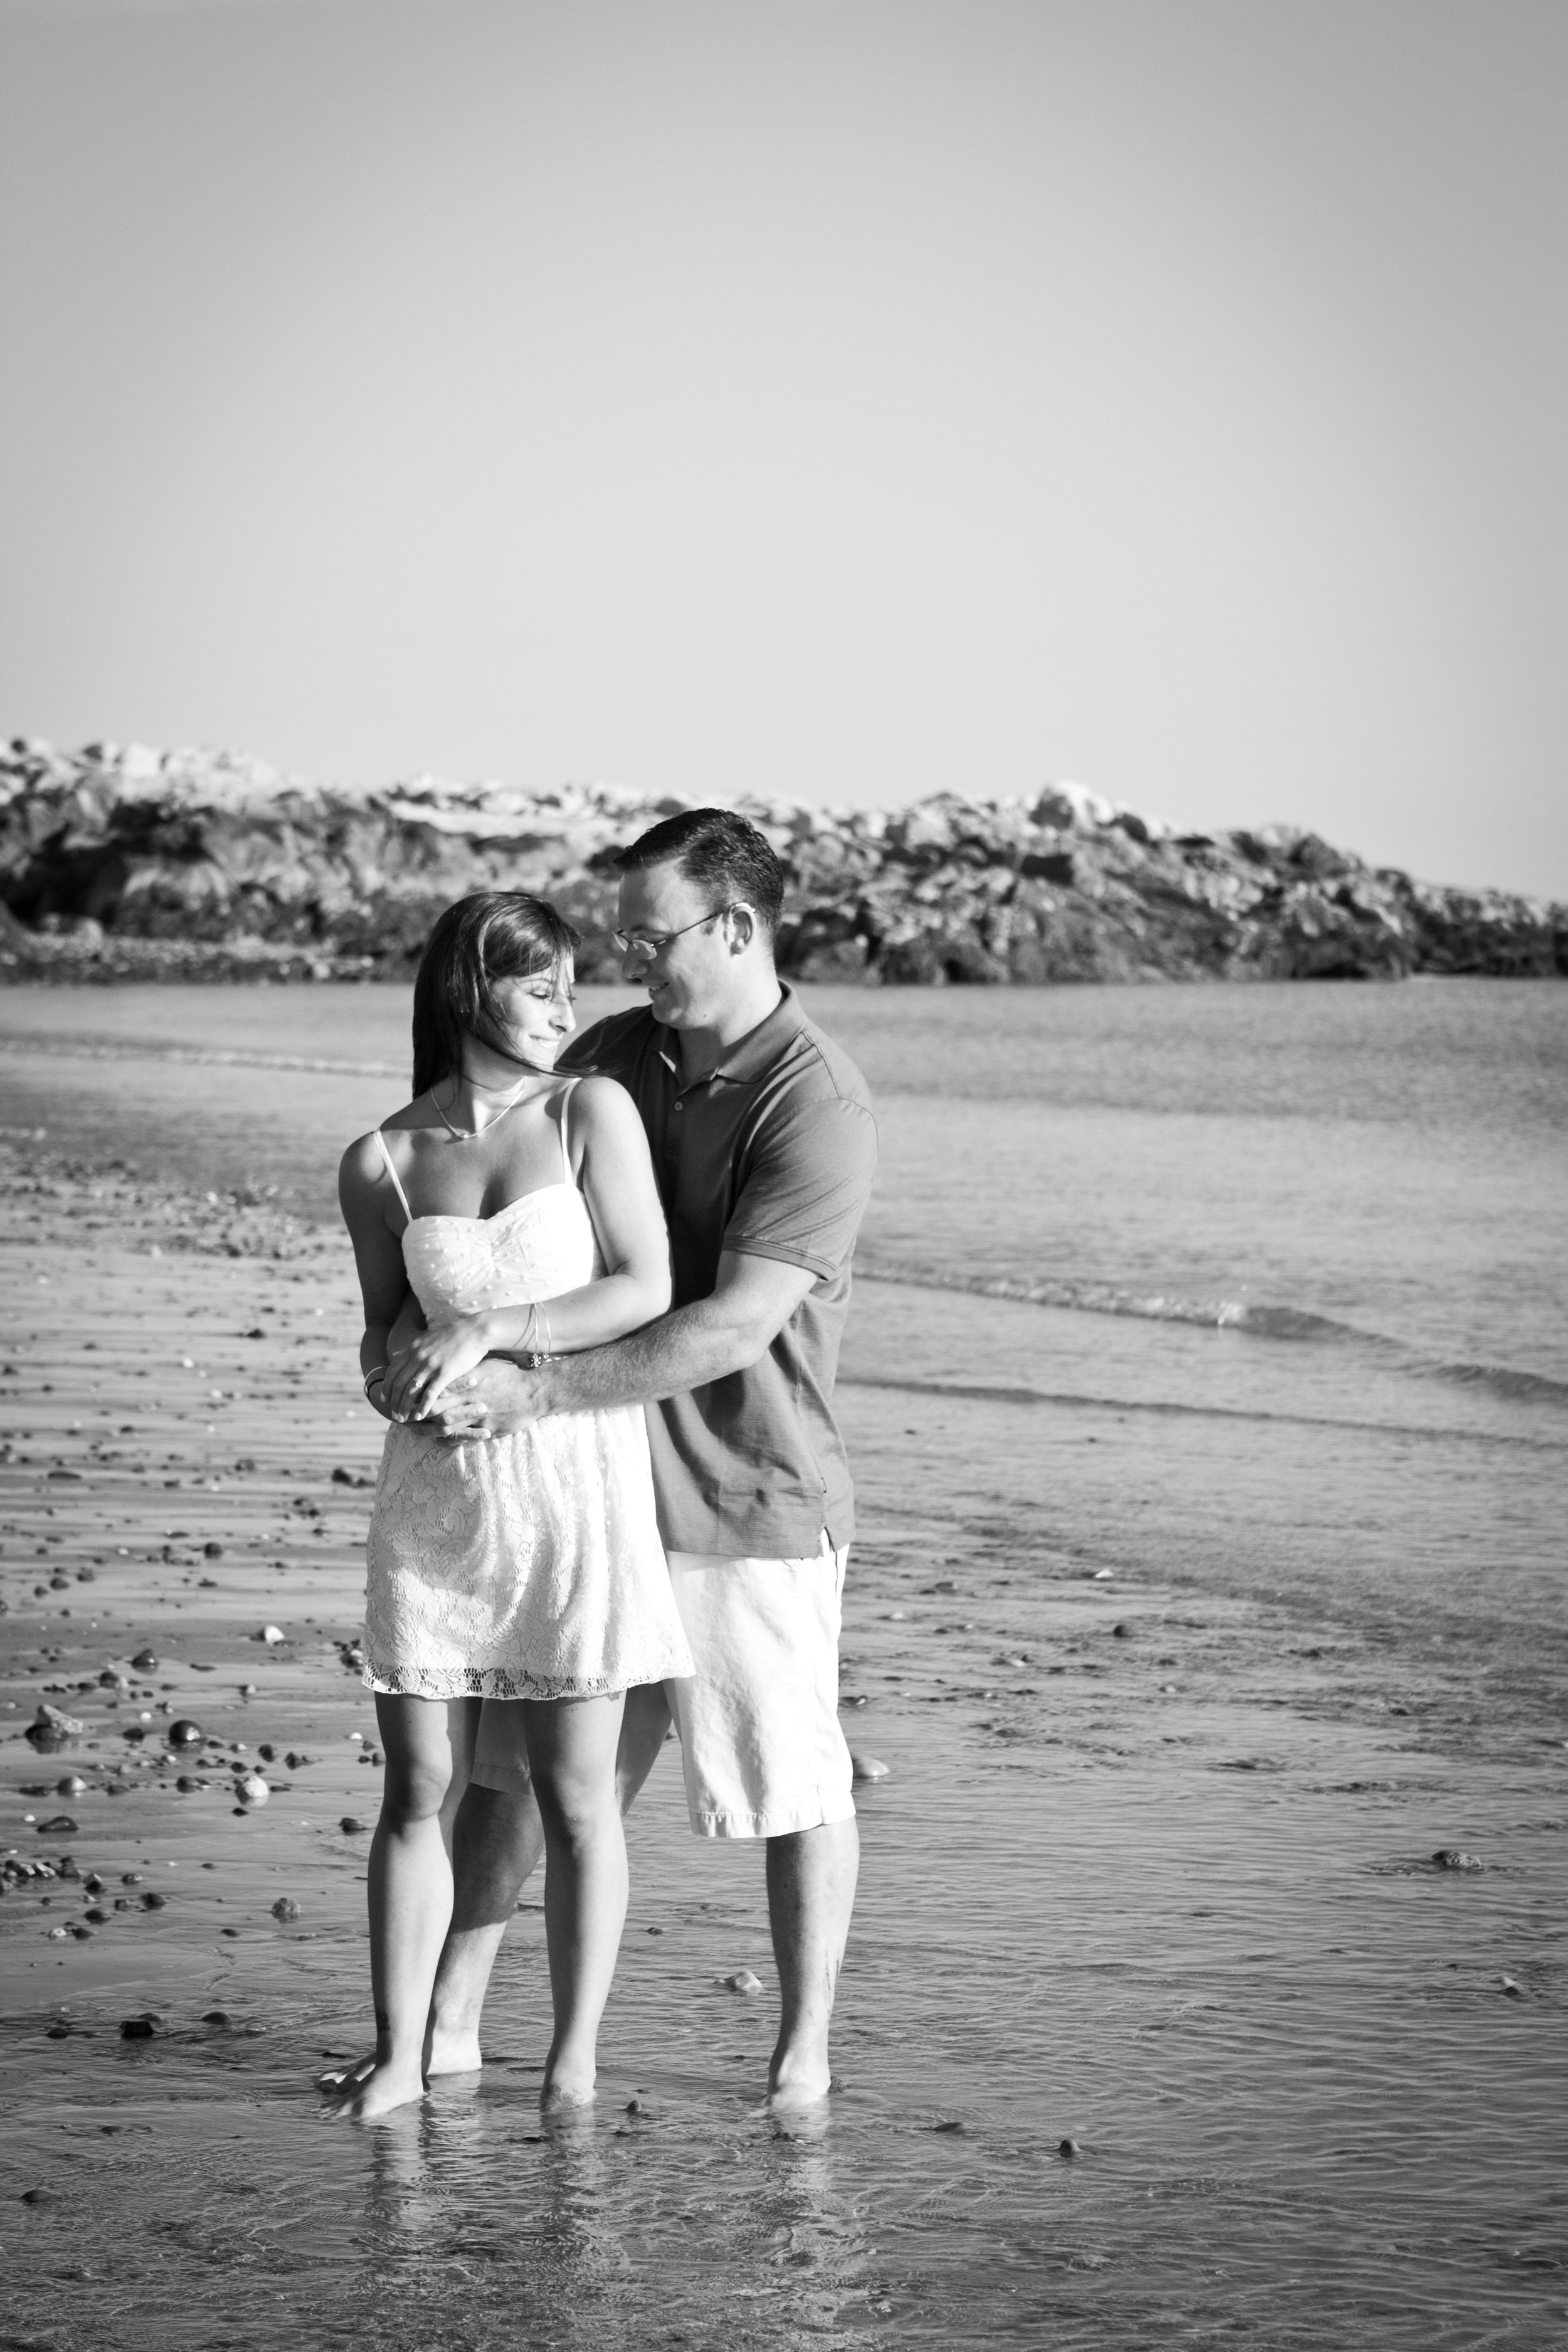
[[[435,924],[414,983],[414,1101],[343,1155],[364,1291],[364,1392],[393,1428],[369,1529],[364,1679],[386,1795],[369,1856],[376,2063],[341,2114],[423,2089],[451,1917],[447,1818],[482,1698],[524,1708],[545,1830],[555,2037],[541,2103],[592,2098],[625,1919],[616,1740],[625,1689],[689,1675],[637,1409],[444,1439],[442,1390],[489,1352],[571,1352],[670,1305],[642,1120],[604,1077],[557,1080],[576,931],[484,891]],[[447,1816],[447,1818],[444,1818]]]

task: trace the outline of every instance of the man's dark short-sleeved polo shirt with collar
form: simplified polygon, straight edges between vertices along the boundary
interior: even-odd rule
[[[877,1169],[865,1080],[785,988],[696,1084],[679,1035],[646,1007],[611,1014],[559,1056],[628,1089],[670,1225],[675,1305],[708,1298],[726,1249],[804,1265],[816,1282],[757,1364],[649,1404],[658,1531],[670,1552],[799,1559],[853,1534],[832,1418],[849,1261]]]

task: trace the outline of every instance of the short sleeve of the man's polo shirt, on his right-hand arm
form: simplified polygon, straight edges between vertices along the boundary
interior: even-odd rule
[[[722,1249],[837,1275],[877,1174],[877,1124],[849,1096],[778,1110],[757,1141]]]

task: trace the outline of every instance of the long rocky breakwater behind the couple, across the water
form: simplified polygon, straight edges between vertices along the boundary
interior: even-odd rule
[[[550,896],[618,976],[614,849],[684,802],[435,779],[348,793],[226,753],[0,750],[0,978],[402,978],[442,906]],[[733,802],[816,981],[1561,976],[1568,908],[1441,889],[1314,833],[1171,833],[1079,786],[912,809]]]

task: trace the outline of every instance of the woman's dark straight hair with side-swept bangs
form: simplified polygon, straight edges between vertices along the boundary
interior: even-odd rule
[[[414,976],[414,1094],[461,1073],[468,1037],[510,1051],[496,981],[557,971],[578,936],[548,898],[520,889],[482,889],[437,915]]]

